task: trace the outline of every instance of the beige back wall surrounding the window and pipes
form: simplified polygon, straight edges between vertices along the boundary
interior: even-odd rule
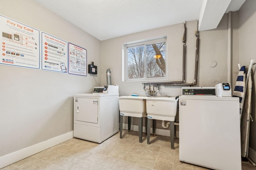
[[[234,16],[236,17],[236,15]],[[237,23],[234,22],[235,24]],[[196,54],[195,31],[197,21],[187,22],[187,57],[186,57],[186,82],[194,80],[194,65]],[[233,34],[235,37],[237,31]],[[168,80],[182,80],[182,36],[183,23],[152,29],[131,35],[108,39],[101,42],[101,67],[102,84],[106,84],[106,69],[112,68],[112,84],[119,85],[120,96],[139,94],[145,96],[142,82],[122,82],[122,45],[142,39],[160,37],[167,35],[167,57],[168,57]],[[228,15],[225,14],[216,29],[200,32],[200,52],[198,63],[198,84],[196,86],[215,86],[220,82],[227,82],[227,47],[228,47]],[[237,48],[233,53],[238,53]],[[237,55],[234,55],[237,61]],[[210,63],[216,62],[215,67]],[[233,63],[234,64],[234,63]],[[235,63],[237,65],[237,63]],[[234,65],[235,65],[234,64]],[[232,72],[237,72],[234,69]],[[237,76],[237,73],[235,73]],[[181,86],[162,86],[162,93],[168,96],[181,95]],[[158,94],[159,95],[159,94]],[[132,122],[136,124],[136,122]],[[161,122],[157,121],[157,128],[162,128]]]

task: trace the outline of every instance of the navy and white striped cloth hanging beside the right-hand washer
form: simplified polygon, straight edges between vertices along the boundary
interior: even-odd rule
[[[244,86],[245,86],[245,78],[246,78],[246,68],[242,66],[238,72],[238,76],[236,79],[236,86],[234,88],[233,97],[239,97],[240,101],[240,113],[241,108],[243,107],[242,98],[244,97]]]

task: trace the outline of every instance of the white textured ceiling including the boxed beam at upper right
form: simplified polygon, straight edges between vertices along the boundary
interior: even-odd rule
[[[214,29],[245,0],[34,0],[84,31],[106,40],[184,21]]]

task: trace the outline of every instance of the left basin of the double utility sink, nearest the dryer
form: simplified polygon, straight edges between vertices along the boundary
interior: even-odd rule
[[[146,96],[120,96],[120,115],[131,117],[144,117],[146,112]]]

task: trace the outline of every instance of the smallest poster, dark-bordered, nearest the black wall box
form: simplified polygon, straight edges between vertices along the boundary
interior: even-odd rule
[[[69,67],[68,73],[87,76],[87,51],[72,43],[68,43]]]

